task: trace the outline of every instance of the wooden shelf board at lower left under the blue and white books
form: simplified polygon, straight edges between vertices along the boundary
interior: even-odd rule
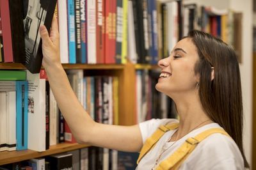
[[[0,152],[0,165],[10,164],[13,162],[20,162],[22,160],[28,160],[31,158],[44,157],[47,155],[52,155],[56,153],[62,153],[65,151],[77,150],[81,148],[86,148],[86,144],[70,144],[61,143],[50,146],[49,150],[38,152],[33,150],[23,150],[23,151],[1,151]]]

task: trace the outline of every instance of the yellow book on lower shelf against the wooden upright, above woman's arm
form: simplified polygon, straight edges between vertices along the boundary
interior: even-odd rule
[[[113,125],[118,125],[118,77],[113,77]]]

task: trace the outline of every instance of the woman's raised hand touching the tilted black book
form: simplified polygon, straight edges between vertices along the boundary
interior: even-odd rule
[[[51,33],[45,26],[40,26],[40,35],[42,38],[42,51],[43,51],[43,61],[42,65],[44,68],[49,68],[50,66],[61,65],[60,62],[60,35],[58,31],[58,20],[54,16],[52,19]]]

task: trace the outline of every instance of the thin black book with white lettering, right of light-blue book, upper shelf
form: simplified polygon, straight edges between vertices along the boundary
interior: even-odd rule
[[[76,33],[76,63],[82,63],[80,0],[74,0],[74,8],[75,8],[75,33]]]

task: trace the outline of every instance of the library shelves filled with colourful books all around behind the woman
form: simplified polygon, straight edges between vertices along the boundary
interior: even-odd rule
[[[12,31],[22,31],[24,41],[36,40],[31,27],[38,26],[44,10],[42,1],[35,2],[28,1],[24,27],[19,30],[15,27],[19,17],[12,15],[14,1],[0,0],[0,167],[134,169],[138,153],[77,144],[44,68],[32,74],[19,61],[24,56],[17,56],[19,35]],[[54,15],[61,63],[77,98],[95,121],[134,125],[151,118],[177,118],[172,100],[154,88],[157,61],[167,57],[191,29],[220,37],[237,52],[244,150],[256,169],[255,6],[252,0],[59,0]]]

